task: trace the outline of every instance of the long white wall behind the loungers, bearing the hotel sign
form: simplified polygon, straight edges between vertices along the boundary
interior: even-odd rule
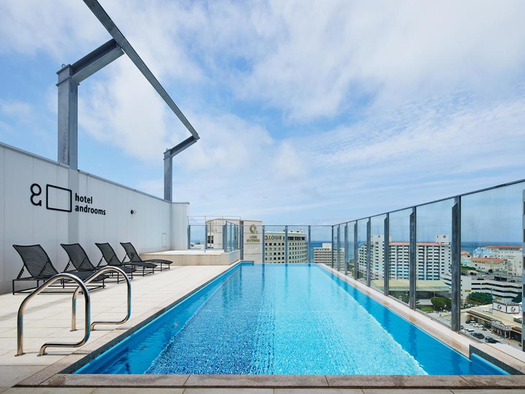
[[[42,201],[41,206],[30,202],[33,183],[42,188],[42,194],[35,197],[35,201]],[[46,184],[72,191],[71,213],[46,209]],[[67,193],[51,189],[49,203],[64,205]],[[75,193],[92,196],[88,205],[106,210],[106,215],[76,212],[75,205],[86,204],[77,203]],[[172,205],[177,213],[174,216]],[[131,210],[137,213],[132,215]],[[172,224],[176,232],[172,232]],[[139,253],[170,250],[175,248],[172,244],[187,242],[184,224],[187,226],[187,203],[171,204],[0,144],[0,293],[10,291],[11,280],[22,267],[13,244],[41,244],[62,271],[68,258],[60,243],[80,242],[96,265],[101,253],[95,242],[109,242],[119,257],[124,254],[119,242],[132,242]]]

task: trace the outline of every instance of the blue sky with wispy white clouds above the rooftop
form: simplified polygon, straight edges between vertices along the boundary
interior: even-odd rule
[[[523,1],[101,4],[201,136],[191,215],[333,224],[525,178]],[[110,38],[81,0],[0,2],[0,141],[56,160],[56,71]],[[188,136],[125,55],[79,86],[81,170],[162,197]]]

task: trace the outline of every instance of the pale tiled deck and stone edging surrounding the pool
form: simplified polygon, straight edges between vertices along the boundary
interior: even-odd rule
[[[24,349],[26,355],[14,357],[16,349],[16,313],[23,295],[0,296],[0,392],[12,393],[525,393],[525,375],[517,376],[213,376],[213,375],[70,375],[60,374],[101,346],[108,347],[137,329],[145,319],[151,319],[188,293],[211,281],[231,266],[178,266],[170,271],[132,281],[132,315],[122,326],[99,326],[92,331],[88,343],[76,349],[48,349],[48,355],[37,357],[45,341],[75,341],[83,332],[70,332],[71,296],[43,294],[26,309],[24,318]],[[327,267],[327,269],[330,269]],[[340,274],[338,274],[340,275]],[[343,275],[340,275],[343,277]],[[505,355],[497,348],[475,344],[468,338],[451,333],[421,313],[397,305],[380,293],[344,280],[362,289],[379,302],[425,328],[433,335],[468,354],[472,344],[477,351],[489,354],[493,360],[513,365],[525,372],[521,355]],[[110,284],[91,293],[91,320],[120,319],[125,312],[125,285]],[[78,323],[82,327],[81,297],[78,299]],[[388,304],[388,305],[387,305]],[[99,350],[100,352],[100,350]],[[11,386],[18,385],[19,387]],[[28,386],[28,387],[20,387]]]

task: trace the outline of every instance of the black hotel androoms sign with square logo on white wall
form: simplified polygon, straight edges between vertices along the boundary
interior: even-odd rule
[[[35,206],[42,206],[42,186],[33,183],[29,188],[31,196],[29,200]],[[50,199],[50,194],[56,196],[56,199]],[[73,191],[71,189],[61,188],[55,185],[46,185],[46,209],[51,211],[73,212]],[[62,204],[60,204],[60,202]],[[93,213],[96,215],[106,215],[105,209],[93,208],[93,196],[78,195],[75,193],[75,212]]]

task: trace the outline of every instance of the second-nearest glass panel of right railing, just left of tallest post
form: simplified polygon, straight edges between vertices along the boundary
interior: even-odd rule
[[[454,199],[416,208],[416,308],[450,326]]]

